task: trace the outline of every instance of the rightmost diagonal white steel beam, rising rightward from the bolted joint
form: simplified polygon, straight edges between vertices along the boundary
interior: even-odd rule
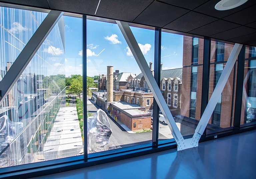
[[[243,45],[241,45],[241,44],[235,44],[230,55],[229,55],[227,63],[226,63],[226,65],[223,69],[223,72],[219,78],[219,81],[212,93],[212,96],[204,110],[204,113],[203,113],[203,115],[196,127],[195,133],[192,137],[191,144],[193,146],[198,146],[198,141],[199,141],[200,137],[202,136],[202,134],[212,116],[212,113],[213,113],[215,106],[221,96],[221,93],[227,83],[228,77],[233,69],[233,66],[236,62],[236,59],[240,53],[242,46]]]

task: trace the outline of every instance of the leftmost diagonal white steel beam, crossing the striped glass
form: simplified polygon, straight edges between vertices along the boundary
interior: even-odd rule
[[[0,105],[64,12],[51,10],[0,82]]]

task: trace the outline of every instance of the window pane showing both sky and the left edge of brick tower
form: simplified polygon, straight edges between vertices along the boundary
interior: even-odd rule
[[[160,90],[183,136],[194,134],[200,120],[202,49],[203,39],[162,32]],[[162,88],[164,84],[168,89]],[[163,119],[159,139],[173,138]]]

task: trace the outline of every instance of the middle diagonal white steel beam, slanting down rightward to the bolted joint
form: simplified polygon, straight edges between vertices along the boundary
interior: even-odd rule
[[[165,119],[167,120],[167,124],[172,132],[172,135],[177,143],[177,150],[182,150],[184,148],[184,138],[182,136],[182,134],[180,133],[174,119],[173,116],[164,100],[164,97],[159,89],[159,86],[156,83],[156,80],[154,79],[152,72],[150,71],[148,64],[145,60],[145,57],[143,56],[140,47],[138,45],[138,43],[136,42],[135,37],[133,36],[133,33],[128,25],[127,22],[121,22],[121,21],[116,21],[117,25],[119,26],[128,46],[130,47],[132,54],[136,60],[136,62],[138,63],[140,70],[142,71],[143,76],[145,77],[150,90],[152,91],[154,98],[160,108],[160,110],[162,111]],[[183,144],[183,145],[179,145]],[[193,146],[191,146],[193,147]]]

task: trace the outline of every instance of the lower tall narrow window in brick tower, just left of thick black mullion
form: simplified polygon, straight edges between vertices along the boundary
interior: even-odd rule
[[[196,118],[197,66],[192,67],[189,117]]]

